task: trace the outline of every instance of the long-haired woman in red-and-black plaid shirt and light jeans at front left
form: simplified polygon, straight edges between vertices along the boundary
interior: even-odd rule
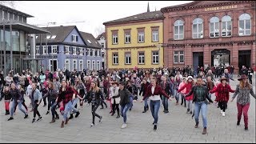
[[[69,122],[69,118],[67,118],[67,114],[72,109],[72,99],[74,98],[75,98],[74,90],[72,89],[72,87],[68,86],[68,83],[66,82],[66,80],[62,80],[62,86],[61,86],[61,89],[59,90],[58,98],[57,98],[57,103],[62,102],[64,106],[64,110],[63,110],[64,113],[63,113],[61,128],[64,127],[64,122],[65,122],[65,125]]]

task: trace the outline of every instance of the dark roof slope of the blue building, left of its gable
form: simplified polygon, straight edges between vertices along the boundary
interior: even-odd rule
[[[53,26],[53,27],[43,27],[44,29],[50,31],[50,35],[56,35],[56,38],[47,39],[48,43],[57,43],[63,42],[68,34],[75,28],[76,26]],[[47,34],[49,35],[49,34]],[[42,42],[46,41],[46,34],[42,34]],[[40,43],[40,36],[36,38],[36,43]]]

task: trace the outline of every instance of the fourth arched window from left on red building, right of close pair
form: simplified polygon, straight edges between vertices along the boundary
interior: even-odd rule
[[[222,17],[222,37],[229,37],[231,36],[231,17],[229,15],[225,15]]]

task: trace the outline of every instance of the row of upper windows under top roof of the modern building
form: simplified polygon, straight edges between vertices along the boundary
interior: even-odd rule
[[[0,16],[1,16],[0,18],[2,20],[7,20],[7,21],[16,20],[19,22],[26,23],[26,17],[19,15],[19,14],[12,13],[12,12],[8,12],[6,10],[2,10]]]

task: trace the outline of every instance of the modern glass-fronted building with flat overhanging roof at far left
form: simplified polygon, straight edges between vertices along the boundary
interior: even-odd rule
[[[32,34],[46,34],[48,31],[26,23],[30,14],[0,5],[0,69],[7,74],[30,68],[34,71],[34,62],[39,59],[30,58],[34,50]]]

